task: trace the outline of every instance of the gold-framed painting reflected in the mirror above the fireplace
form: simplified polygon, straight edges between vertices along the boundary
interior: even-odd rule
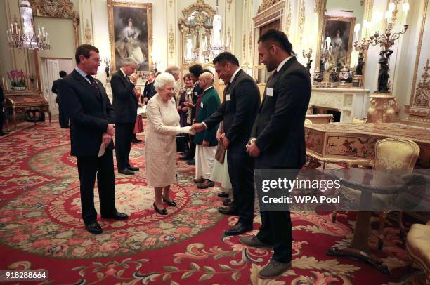
[[[353,33],[356,18],[325,16],[323,34],[325,39],[330,37],[330,60],[337,66],[343,63],[349,67],[353,48]]]

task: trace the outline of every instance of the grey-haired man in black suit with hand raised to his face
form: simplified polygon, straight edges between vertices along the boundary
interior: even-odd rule
[[[110,79],[115,109],[115,156],[118,172],[125,175],[134,174],[133,171],[139,170],[131,166],[129,161],[138,108],[138,100],[134,93],[137,77],[132,75],[137,66],[136,60],[125,58],[122,67]]]

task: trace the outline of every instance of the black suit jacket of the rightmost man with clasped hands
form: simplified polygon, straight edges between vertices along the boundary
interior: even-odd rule
[[[267,94],[273,88],[273,95]],[[291,58],[273,80],[269,79],[252,128],[261,150],[259,165],[301,168],[306,161],[304,119],[311,98],[311,78],[306,68]]]

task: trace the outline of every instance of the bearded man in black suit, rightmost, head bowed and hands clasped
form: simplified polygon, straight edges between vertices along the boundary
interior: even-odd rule
[[[273,72],[252,128],[247,152],[256,158],[256,169],[289,169],[294,180],[306,160],[304,120],[311,98],[311,79],[293,56],[283,32],[271,29],[259,39],[259,57]],[[241,237],[242,244],[274,250],[271,263],[259,277],[272,279],[289,270],[292,260],[292,223],[289,211],[261,211],[256,237]]]

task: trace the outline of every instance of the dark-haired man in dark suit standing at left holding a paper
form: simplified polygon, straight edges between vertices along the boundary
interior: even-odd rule
[[[92,234],[103,232],[94,208],[94,182],[98,185],[102,218],[129,218],[115,208],[115,173],[112,157],[112,135],[115,110],[107,98],[103,84],[91,75],[97,74],[100,55],[95,46],[78,46],[77,66],[58,84],[65,112],[70,117],[71,155],[77,157],[81,190],[82,218]],[[104,153],[103,153],[104,150]]]

